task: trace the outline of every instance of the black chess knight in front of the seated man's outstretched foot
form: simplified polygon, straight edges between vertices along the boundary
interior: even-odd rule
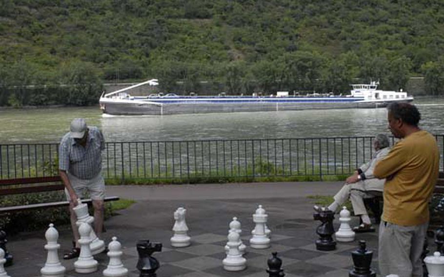
[[[333,219],[335,214],[328,210],[322,210],[319,213],[314,213],[313,218],[320,220],[321,225],[316,228],[316,234],[319,235],[319,239],[316,240],[316,249],[322,251],[333,251],[336,249],[336,241],[333,240],[332,235],[335,233],[333,229]]]

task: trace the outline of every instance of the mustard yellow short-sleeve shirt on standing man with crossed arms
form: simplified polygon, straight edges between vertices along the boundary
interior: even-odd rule
[[[373,171],[384,184],[383,220],[413,226],[429,220],[428,202],[439,174],[435,137],[418,131],[398,141]]]

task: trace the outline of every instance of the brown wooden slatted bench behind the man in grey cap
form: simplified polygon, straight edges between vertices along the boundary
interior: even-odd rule
[[[61,191],[64,190],[64,188],[65,187],[63,185],[60,176],[0,180],[0,196]],[[115,201],[115,200],[119,200],[119,197],[112,196],[112,197],[106,197],[104,199],[104,201]],[[91,199],[82,199],[82,203],[90,204],[91,202],[92,202]],[[62,207],[62,206],[69,206],[69,201],[57,201],[57,202],[0,207],[0,214],[47,208],[47,207]]]

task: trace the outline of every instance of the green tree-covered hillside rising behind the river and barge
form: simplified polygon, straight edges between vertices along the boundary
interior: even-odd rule
[[[424,76],[436,95],[443,10],[442,0],[0,0],[0,105],[88,104],[103,81],[148,78],[240,94],[343,93],[354,78],[400,89]]]

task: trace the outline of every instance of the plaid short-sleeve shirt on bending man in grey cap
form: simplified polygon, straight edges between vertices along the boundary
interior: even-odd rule
[[[101,131],[94,126],[88,128],[85,147],[77,144],[69,133],[63,136],[59,146],[59,169],[80,179],[92,179],[101,172],[101,151],[105,149]]]

